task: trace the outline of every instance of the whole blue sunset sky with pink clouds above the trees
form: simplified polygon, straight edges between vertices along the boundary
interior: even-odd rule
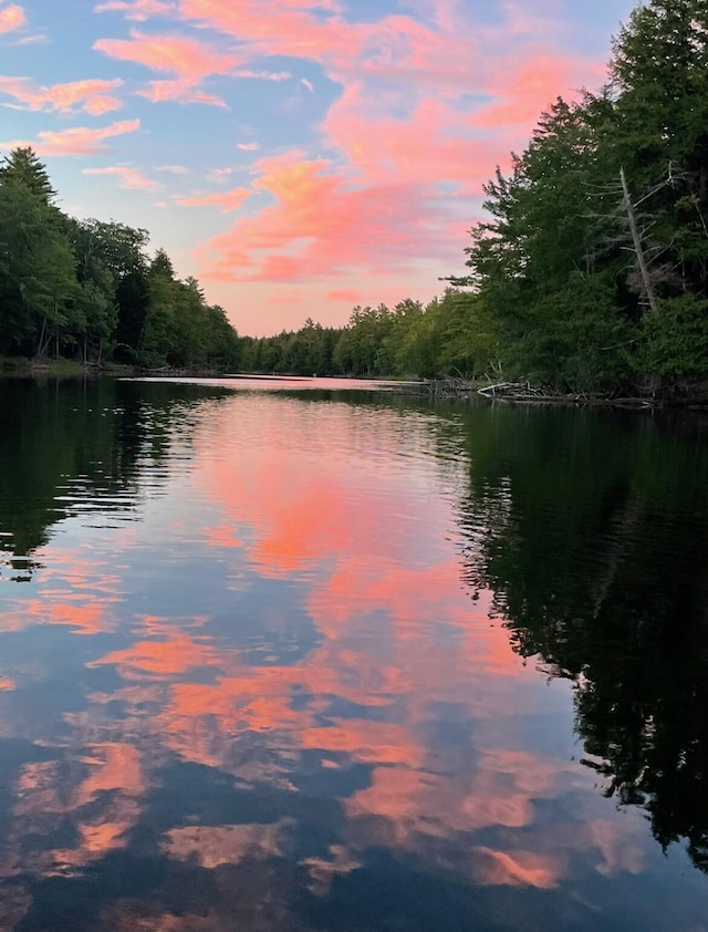
[[[464,271],[482,185],[634,0],[0,0],[0,155],[150,232],[241,334]]]

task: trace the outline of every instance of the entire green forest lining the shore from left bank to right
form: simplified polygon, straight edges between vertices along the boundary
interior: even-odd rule
[[[30,371],[317,373],[424,380],[438,396],[704,407],[707,127],[708,4],[641,3],[603,86],[556,97],[483,186],[467,275],[427,303],[261,338],[148,250],[147,230],[64,214],[46,166],[18,147],[0,157],[0,356]]]

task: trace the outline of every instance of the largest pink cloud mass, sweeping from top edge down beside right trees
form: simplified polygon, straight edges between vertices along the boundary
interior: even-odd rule
[[[431,24],[347,22],[324,9],[183,0],[184,19],[237,38],[244,59],[314,60],[344,84],[321,124],[336,157],[256,163],[252,186],[269,204],[199,250],[214,281],[383,280],[423,261],[446,273],[494,165],[507,165],[540,112],[594,68],[553,54],[544,44],[552,20],[522,21],[514,6],[493,28],[454,2],[430,4]]]

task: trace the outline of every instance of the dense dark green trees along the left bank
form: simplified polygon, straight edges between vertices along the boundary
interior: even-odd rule
[[[199,283],[176,278],[148,234],[55,205],[31,148],[0,162],[0,355],[142,367],[235,367],[239,340]]]

